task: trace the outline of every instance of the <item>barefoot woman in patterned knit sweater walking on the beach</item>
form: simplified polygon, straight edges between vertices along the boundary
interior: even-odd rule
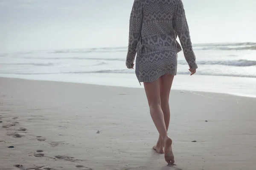
[[[170,122],[169,93],[177,73],[177,53],[181,51],[191,75],[198,68],[189,36],[189,27],[181,0],[134,0],[129,27],[126,66],[134,68],[144,83],[151,118],[159,132],[157,153],[164,153],[168,164],[174,164],[172,139],[167,135]]]

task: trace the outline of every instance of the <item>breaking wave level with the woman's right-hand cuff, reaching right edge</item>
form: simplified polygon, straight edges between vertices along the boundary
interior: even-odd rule
[[[178,61],[178,64],[187,65],[186,61]],[[256,61],[239,59],[239,60],[227,60],[227,61],[197,61],[200,65],[228,65],[236,67],[256,66]]]

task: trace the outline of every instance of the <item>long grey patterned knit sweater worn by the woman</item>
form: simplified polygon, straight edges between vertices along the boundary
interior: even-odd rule
[[[137,54],[136,74],[139,82],[154,81],[165,73],[176,75],[175,53],[177,55],[181,51],[177,36],[189,67],[198,68],[182,1],[134,0],[126,66],[133,67]]]

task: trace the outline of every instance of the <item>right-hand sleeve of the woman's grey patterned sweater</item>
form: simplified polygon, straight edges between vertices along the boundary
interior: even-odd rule
[[[175,32],[180,39],[180,44],[183,48],[185,59],[191,69],[196,69],[198,68],[198,66],[195,61],[196,58],[189,35],[189,26],[186,20],[185,10],[181,0],[179,0],[177,6],[174,22]]]

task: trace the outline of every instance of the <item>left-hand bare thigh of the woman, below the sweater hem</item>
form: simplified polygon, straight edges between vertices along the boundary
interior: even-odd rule
[[[161,105],[160,98],[160,78],[154,82],[144,82],[148,105]]]

